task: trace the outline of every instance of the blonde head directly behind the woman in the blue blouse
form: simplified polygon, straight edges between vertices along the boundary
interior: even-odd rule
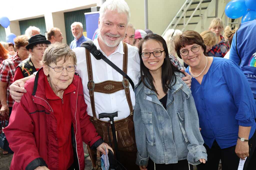
[[[210,51],[211,48],[217,44],[218,41],[218,37],[216,36],[216,34],[210,30],[204,31],[201,34],[201,37],[204,40],[204,43],[206,45],[206,52]]]

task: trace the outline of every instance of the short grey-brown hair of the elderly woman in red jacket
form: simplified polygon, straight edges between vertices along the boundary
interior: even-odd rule
[[[71,48],[63,43],[55,42],[48,46],[45,50],[42,63],[49,65],[50,63],[57,64],[64,57],[64,63],[68,58],[71,57],[74,61],[74,65],[77,64],[76,53],[71,50]]]

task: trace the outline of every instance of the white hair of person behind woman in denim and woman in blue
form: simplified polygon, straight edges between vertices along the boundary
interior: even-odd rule
[[[172,54],[175,56],[176,51],[175,51],[175,45],[174,45],[174,40],[178,35],[181,35],[182,31],[180,30],[174,30],[174,29],[168,29],[163,38],[166,41],[167,48],[168,48],[168,53]]]

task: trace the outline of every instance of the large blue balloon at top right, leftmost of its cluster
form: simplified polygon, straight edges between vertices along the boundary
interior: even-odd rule
[[[247,6],[244,0],[233,0],[230,1],[226,8],[225,14],[232,19],[240,18],[247,12]]]

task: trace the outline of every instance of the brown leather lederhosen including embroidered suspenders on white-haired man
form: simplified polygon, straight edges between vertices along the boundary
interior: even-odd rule
[[[123,71],[127,74],[127,44],[123,43],[124,46],[124,55],[123,55]],[[92,107],[92,114],[93,117],[91,117],[91,122],[96,128],[96,131],[99,133],[99,135],[102,137],[105,143],[109,142],[109,136],[112,146],[114,146],[113,143],[113,136],[111,131],[111,126],[109,122],[103,122],[99,119],[97,119],[96,112],[95,112],[95,104],[94,104],[94,91],[100,92],[100,93],[114,93],[119,90],[124,90],[126,99],[130,108],[130,115],[126,117],[125,119],[115,121],[115,130],[116,130],[116,138],[118,142],[118,150],[122,152],[137,152],[136,143],[135,143],[135,132],[134,132],[134,124],[133,124],[133,106],[130,96],[130,83],[128,79],[123,77],[123,81],[104,81],[100,83],[94,83],[93,81],[93,74],[92,74],[92,65],[91,65],[91,55],[90,51],[86,49],[86,61],[87,61],[87,70],[88,70],[88,84],[87,87],[89,89],[89,95],[90,95],[90,101],[91,101],[91,107]],[[108,132],[109,128],[109,132]],[[96,160],[95,157],[92,155],[96,152],[92,151],[88,146],[89,155],[92,160],[93,167],[95,167],[94,162]],[[114,150],[114,147],[112,147]],[[115,152],[115,151],[114,151]],[[135,164],[135,162],[134,162]]]

